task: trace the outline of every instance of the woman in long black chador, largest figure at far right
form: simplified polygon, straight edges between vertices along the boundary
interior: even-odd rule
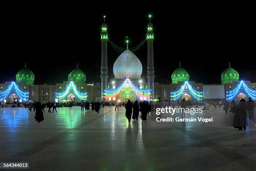
[[[241,99],[236,106],[233,126],[239,130],[242,130],[242,127],[244,130],[246,130],[246,102],[244,99]]]

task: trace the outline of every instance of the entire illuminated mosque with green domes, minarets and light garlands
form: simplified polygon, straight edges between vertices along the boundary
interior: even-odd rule
[[[87,84],[86,74],[77,67],[68,75],[68,81],[50,85],[34,85],[35,76],[26,64],[16,74],[16,82],[0,83],[0,101],[12,102],[70,102],[70,101],[110,101],[127,102],[156,100],[205,101],[205,100],[235,100],[248,97],[256,99],[256,83],[239,81],[240,75],[232,67],[226,68],[220,75],[221,84],[203,84],[189,80],[189,73],[181,67],[174,70],[172,83],[161,84],[154,82],[154,32],[153,24],[147,25],[147,76],[141,77],[142,64],[133,53],[133,49],[122,49],[122,53],[113,65],[114,79],[108,78],[108,43],[109,35],[104,20],[100,40],[101,47],[101,83]],[[110,42],[111,44],[111,42]],[[142,43],[143,44],[143,43]],[[141,44],[141,45],[142,45]],[[138,47],[136,47],[138,48]],[[120,49],[120,48],[119,48]],[[133,51],[133,52],[132,52]]]

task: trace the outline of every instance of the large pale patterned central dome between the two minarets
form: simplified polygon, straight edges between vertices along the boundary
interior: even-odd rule
[[[127,49],[116,59],[113,72],[116,79],[125,79],[126,75],[132,79],[140,79],[142,74],[141,61]]]

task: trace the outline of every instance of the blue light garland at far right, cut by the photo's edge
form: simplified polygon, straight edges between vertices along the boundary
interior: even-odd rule
[[[237,85],[235,89],[232,91],[227,92],[227,100],[233,99],[241,89],[241,87],[246,91],[246,93],[252,97],[253,99],[256,99],[256,91],[251,90],[244,82],[243,80]]]

